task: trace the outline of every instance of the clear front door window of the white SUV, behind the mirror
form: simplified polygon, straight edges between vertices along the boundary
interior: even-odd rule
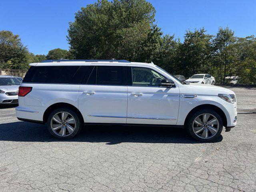
[[[150,68],[132,67],[132,86],[158,87],[164,76]]]

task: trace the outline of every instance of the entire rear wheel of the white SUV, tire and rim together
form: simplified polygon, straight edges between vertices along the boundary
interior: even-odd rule
[[[57,139],[70,139],[83,127],[80,116],[70,108],[58,108],[48,116],[47,126],[50,134]]]

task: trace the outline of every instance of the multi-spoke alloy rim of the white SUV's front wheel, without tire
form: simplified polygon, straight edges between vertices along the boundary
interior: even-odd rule
[[[212,114],[204,113],[197,116],[193,122],[193,131],[196,136],[208,139],[217,134],[219,121]]]

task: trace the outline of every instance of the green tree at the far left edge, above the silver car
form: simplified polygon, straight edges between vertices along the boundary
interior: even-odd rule
[[[5,68],[27,69],[28,49],[18,35],[11,31],[0,31],[0,63]]]

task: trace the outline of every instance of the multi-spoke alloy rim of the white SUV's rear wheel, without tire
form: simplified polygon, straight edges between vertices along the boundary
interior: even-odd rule
[[[68,112],[58,112],[52,117],[51,128],[58,136],[68,136],[74,132],[76,120]]]

